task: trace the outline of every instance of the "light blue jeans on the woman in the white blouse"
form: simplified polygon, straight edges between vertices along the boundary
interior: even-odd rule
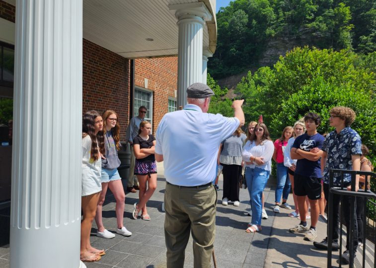
[[[261,225],[262,191],[269,179],[269,174],[269,171],[260,168],[245,169],[245,180],[250,197],[249,203],[252,208],[251,224]]]

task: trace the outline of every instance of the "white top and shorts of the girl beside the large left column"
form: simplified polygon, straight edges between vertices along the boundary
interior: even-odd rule
[[[82,138],[82,176],[81,176],[81,196],[90,195],[102,190],[101,178],[101,158],[94,162],[90,159],[91,138],[86,135]],[[99,150],[99,148],[98,148]]]

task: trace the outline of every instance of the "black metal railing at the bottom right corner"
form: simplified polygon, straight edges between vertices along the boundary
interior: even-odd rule
[[[333,186],[333,179],[334,174],[341,175],[341,186]],[[347,190],[347,184],[344,182],[344,175],[350,174],[351,175],[351,190]],[[356,183],[356,176],[362,175],[365,176],[365,189],[360,189],[359,191],[355,191],[355,183]],[[376,178],[376,174],[373,172],[362,172],[362,171],[350,171],[350,170],[337,170],[331,169],[330,170],[330,177],[329,177],[329,197],[328,197],[328,259],[327,259],[327,267],[332,268],[332,242],[333,242],[333,217],[334,217],[334,204],[333,204],[333,196],[340,195],[341,196],[341,206],[344,205],[343,198],[344,196],[349,196],[351,198],[350,202],[350,223],[348,226],[353,227],[356,219],[356,200],[357,197],[362,200],[363,207],[364,207],[364,215],[367,215],[367,200],[368,198],[376,198],[376,194],[372,192],[367,185],[369,185],[371,179]],[[346,184],[346,185],[345,185]],[[340,234],[339,234],[339,267],[341,267],[341,259],[342,259],[342,224],[343,224],[343,215],[342,215],[342,207],[339,209],[339,221],[340,221]],[[358,232],[358,230],[354,230],[354,228],[347,228],[346,232],[349,233],[349,268],[354,267],[354,231]],[[366,267],[366,238],[367,238],[367,227],[366,227],[366,220],[363,221],[363,260],[362,260],[362,267]],[[376,245],[376,244],[375,244]],[[375,248],[375,256],[374,256],[374,267],[376,268],[376,248]]]

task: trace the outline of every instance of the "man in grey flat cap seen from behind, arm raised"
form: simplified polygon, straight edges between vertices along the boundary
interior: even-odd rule
[[[244,125],[243,100],[234,100],[234,117],[207,113],[212,89],[195,83],[187,89],[183,110],[163,116],[156,131],[155,159],[164,161],[164,235],[167,268],[184,266],[193,237],[195,268],[211,267],[217,192],[212,184],[221,141]]]

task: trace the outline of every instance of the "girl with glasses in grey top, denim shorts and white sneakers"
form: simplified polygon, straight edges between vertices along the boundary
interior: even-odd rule
[[[123,224],[125,193],[121,177],[117,168],[120,166],[118,151],[120,150],[120,125],[118,115],[113,110],[106,110],[103,113],[103,134],[105,154],[102,159],[102,192],[99,196],[95,222],[98,226],[97,236],[101,238],[114,238],[115,234],[106,230],[102,221],[102,207],[106,197],[107,189],[110,188],[116,200],[116,233],[123,236],[131,236],[132,233]]]

